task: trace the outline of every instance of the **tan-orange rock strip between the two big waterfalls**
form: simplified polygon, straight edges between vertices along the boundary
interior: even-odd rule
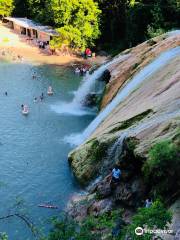
[[[130,56],[127,60],[121,62],[120,64],[116,63],[109,69],[111,71],[112,78],[107,86],[101,108],[104,108],[113,99],[113,97],[115,97],[125,81],[145,67],[160,53],[179,45],[180,36],[171,36],[167,38],[164,36],[155,38],[153,42],[152,40],[149,40],[130,49]],[[125,52],[127,52],[127,50]]]

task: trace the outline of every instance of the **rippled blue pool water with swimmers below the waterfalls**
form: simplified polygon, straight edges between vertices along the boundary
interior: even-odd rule
[[[38,78],[33,80],[34,72]],[[41,226],[42,220],[59,214],[73,192],[79,190],[67,162],[71,146],[63,139],[81,132],[94,116],[88,109],[83,117],[59,115],[52,110],[59,101],[71,102],[79,83],[78,76],[62,67],[0,63],[0,216],[9,213],[20,199],[25,212]],[[46,95],[49,85],[55,95],[34,103],[34,97],[42,92]],[[21,104],[30,107],[28,117],[21,115]],[[60,209],[37,207],[44,202]],[[29,230],[15,219],[1,221],[0,231],[7,232],[12,240],[32,239]]]

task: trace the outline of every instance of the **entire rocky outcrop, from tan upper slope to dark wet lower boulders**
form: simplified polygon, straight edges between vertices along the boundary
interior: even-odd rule
[[[178,45],[180,35],[166,35],[125,51],[124,54],[130,53],[128,57],[109,69],[111,78],[101,108],[131,81],[134,74],[161,52]],[[69,162],[80,183],[87,185],[97,176],[102,177],[84,196],[85,214],[100,214],[117,205],[134,209],[142,206],[147,194],[153,193],[151,183],[145,182],[142,176],[142,166],[156,142],[168,139],[180,146],[179,93],[180,55],[147,76],[109,113],[89,139],[69,154]],[[120,166],[122,177],[120,184],[113,187],[109,173],[115,163]],[[180,186],[180,177],[176,176],[174,183],[172,174],[167,179],[167,192],[172,185],[169,194],[173,196]],[[167,197],[170,196],[167,194]],[[80,211],[81,207],[78,209]],[[73,216],[76,215],[77,212]]]

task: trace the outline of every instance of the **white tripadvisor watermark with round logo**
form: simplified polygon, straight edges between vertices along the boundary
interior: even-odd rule
[[[141,236],[143,234],[173,234],[173,230],[171,229],[148,229],[137,227],[135,229],[135,234],[137,236]]]

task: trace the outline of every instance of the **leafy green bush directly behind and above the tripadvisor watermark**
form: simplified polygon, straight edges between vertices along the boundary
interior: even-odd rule
[[[137,227],[147,229],[166,229],[167,224],[171,223],[172,214],[166,210],[164,205],[159,201],[155,201],[150,208],[139,208],[137,214],[133,217],[131,225],[127,226],[119,239],[124,240],[126,235],[133,240],[151,240],[152,234],[144,233],[142,236],[135,234]]]

